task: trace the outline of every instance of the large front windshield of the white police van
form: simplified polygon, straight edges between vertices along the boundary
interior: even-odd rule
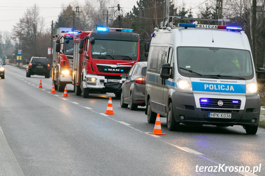
[[[251,79],[254,76],[251,54],[247,50],[177,47],[177,64],[179,73],[187,77],[200,77],[201,74],[221,79]]]

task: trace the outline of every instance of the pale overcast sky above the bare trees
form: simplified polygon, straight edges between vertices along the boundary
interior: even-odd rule
[[[0,31],[9,31],[13,29],[19,18],[23,17],[27,8],[37,4],[40,9],[40,16],[45,19],[46,28],[50,28],[51,22],[55,23],[58,19],[58,15],[61,12],[61,7],[67,6],[69,3],[75,2],[76,0],[1,0],[0,1]],[[80,4],[84,3],[84,0],[78,0]],[[137,0],[116,0],[117,4],[124,11],[130,11],[134,5],[136,5]],[[175,3],[180,4],[183,0],[174,0]],[[184,0],[187,8],[194,8],[200,3],[205,2],[205,0]],[[196,8],[194,8],[196,10]]]

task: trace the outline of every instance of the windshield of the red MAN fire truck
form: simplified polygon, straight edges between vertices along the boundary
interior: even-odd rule
[[[92,58],[110,60],[137,60],[138,41],[95,39],[91,45]]]

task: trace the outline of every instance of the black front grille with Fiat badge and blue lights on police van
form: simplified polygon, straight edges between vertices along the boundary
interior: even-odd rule
[[[200,105],[202,108],[240,109],[241,100],[240,99],[200,98]]]

